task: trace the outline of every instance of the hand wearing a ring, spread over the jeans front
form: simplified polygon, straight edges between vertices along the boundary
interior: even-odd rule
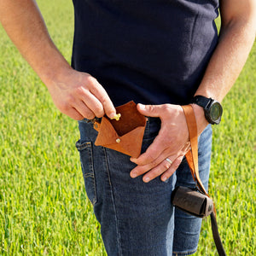
[[[172,104],[138,104],[137,110],[148,117],[159,117],[161,128],[147,151],[137,159],[131,158],[137,166],[131,170],[130,175],[138,177],[147,172],[143,176],[145,183],[160,175],[161,180],[166,181],[177,170],[190,147],[189,130],[183,108]]]

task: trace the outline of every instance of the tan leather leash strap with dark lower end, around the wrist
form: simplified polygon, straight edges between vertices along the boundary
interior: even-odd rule
[[[196,126],[196,120],[195,120],[195,113],[191,105],[185,105],[185,106],[182,106],[182,108],[185,113],[188,129],[189,129],[189,141],[191,145],[189,152],[186,154],[186,159],[189,164],[189,169],[197,188],[201,191],[201,193],[210,197],[210,195],[207,194],[207,190],[204,188],[203,183],[201,182],[201,178],[198,172],[198,143],[197,143],[197,126]],[[218,250],[218,255],[226,256],[223,244],[218,234],[218,224],[216,220],[215,206],[214,206],[214,212],[211,213],[211,224],[212,224],[212,236],[215,242],[215,246],[217,247],[217,250]]]

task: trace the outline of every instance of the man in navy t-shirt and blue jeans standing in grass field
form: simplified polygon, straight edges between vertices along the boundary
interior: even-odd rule
[[[0,19],[56,107],[80,120],[77,148],[106,250],[109,255],[195,253],[201,221],[174,210],[170,201],[175,186],[193,184],[183,160],[189,135],[181,105],[193,102],[199,168],[207,187],[208,124],[219,122],[218,102],[253,45],[256,3],[219,1],[219,37],[218,0],[73,3],[73,67],[49,38],[35,1],[0,0]],[[210,98],[218,101],[217,113]],[[96,147],[88,121],[104,114],[113,118],[114,106],[131,100],[143,103],[137,109],[149,117],[137,159]]]

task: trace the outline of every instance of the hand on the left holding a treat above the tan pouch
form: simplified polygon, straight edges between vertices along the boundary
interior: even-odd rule
[[[75,120],[109,118],[116,114],[108,93],[89,73],[68,68],[60,78],[46,84],[55,106]]]

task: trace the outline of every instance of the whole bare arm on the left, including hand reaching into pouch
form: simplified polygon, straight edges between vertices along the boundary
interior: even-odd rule
[[[107,92],[89,73],[69,66],[49,37],[34,0],[0,0],[0,21],[44,84],[57,108],[73,119],[115,114]]]

